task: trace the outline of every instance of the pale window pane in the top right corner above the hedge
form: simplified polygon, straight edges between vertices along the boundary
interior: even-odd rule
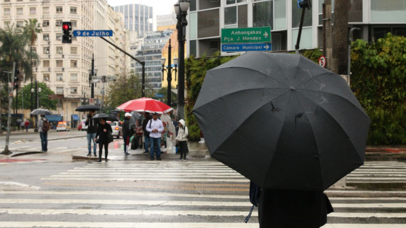
[[[406,22],[405,0],[371,0],[372,22]]]

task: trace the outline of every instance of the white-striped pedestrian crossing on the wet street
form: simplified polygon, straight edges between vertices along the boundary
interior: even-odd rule
[[[347,182],[366,181],[369,171],[397,177],[404,168],[366,162]],[[244,223],[249,181],[217,161],[82,163],[41,181],[39,189],[0,191],[0,228],[259,228],[256,210]],[[403,189],[326,193],[335,212],[323,228],[406,228]]]

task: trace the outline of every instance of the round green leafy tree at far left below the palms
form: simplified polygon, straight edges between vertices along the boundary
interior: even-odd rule
[[[58,100],[51,100],[48,97],[50,94],[55,94],[54,91],[49,89],[44,82],[39,82],[37,85],[38,88],[41,88],[41,92],[38,93],[39,106],[50,110],[56,110]],[[22,100],[24,98],[24,109],[29,109],[31,106],[31,96],[33,96],[33,100],[35,100],[35,92],[32,93],[31,84],[27,84],[18,92],[18,108],[22,108]],[[15,101],[16,99],[14,98],[13,102]],[[34,106],[37,107],[37,104],[34,104]]]

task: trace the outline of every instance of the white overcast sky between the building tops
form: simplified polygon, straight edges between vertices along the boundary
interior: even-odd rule
[[[170,14],[173,11],[173,5],[178,0],[107,0],[110,6],[126,5],[126,4],[144,4],[152,6],[154,15],[154,27],[156,29],[156,15]]]

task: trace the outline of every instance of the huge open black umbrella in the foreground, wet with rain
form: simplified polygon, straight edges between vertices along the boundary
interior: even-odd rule
[[[210,154],[263,188],[325,190],[364,161],[369,117],[341,76],[300,55],[208,71],[193,112]]]

